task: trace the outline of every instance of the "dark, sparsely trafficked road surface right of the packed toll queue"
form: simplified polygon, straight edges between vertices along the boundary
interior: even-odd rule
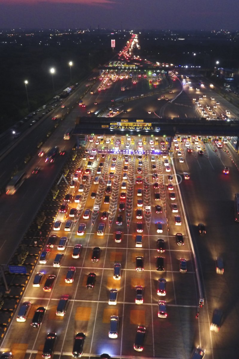
[[[205,347],[208,358],[234,358],[238,348],[237,336],[232,328],[238,327],[238,224],[234,221],[233,199],[238,192],[238,170],[221,150],[215,153],[208,144],[202,156],[186,153],[186,161],[175,168],[179,174],[187,170],[189,181],[180,185],[189,220],[189,228],[202,274],[205,306],[200,310],[203,328],[211,323],[215,308],[224,312],[219,333],[208,332]],[[229,176],[222,173],[230,168]],[[200,236],[198,223],[206,225],[207,233]],[[216,274],[216,257],[224,260],[224,275]],[[207,331],[206,331],[207,333]],[[202,334],[201,334],[201,338]]]

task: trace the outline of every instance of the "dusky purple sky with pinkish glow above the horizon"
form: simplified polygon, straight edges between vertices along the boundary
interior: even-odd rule
[[[238,0],[0,0],[0,28],[238,30]]]

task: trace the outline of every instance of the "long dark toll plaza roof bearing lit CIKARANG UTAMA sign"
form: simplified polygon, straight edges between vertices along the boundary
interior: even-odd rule
[[[77,117],[73,132],[84,135],[131,136],[239,136],[238,120],[206,120],[206,118],[123,118]]]

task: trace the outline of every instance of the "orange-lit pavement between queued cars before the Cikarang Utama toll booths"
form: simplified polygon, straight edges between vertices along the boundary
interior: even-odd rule
[[[106,138],[104,139],[106,140]],[[121,136],[114,137],[113,143],[109,147],[115,146],[117,139],[120,141],[120,148],[124,148],[126,138]],[[151,146],[149,144],[150,140],[152,140],[151,137],[145,137],[145,140],[142,139],[144,149]],[[138,141],[139,138],[131,137],[132,149],[138,148]],[[94,138],[94,143],[89,143],[89,147],[92,149],[94,146],[100,147],[102,145],[95,145]],[[158,147],[159,145],[155,145],[155,148]],[[92,358],[96,354],[99,355],[103,351],[107,351],[116,357],[126,358],[130,356],[136,358],[137,353],[133,350],[133,341],[136,327],[139,324],[143,324],[147,328],[145,349],[141,353],[142,358],[153,356],[155,358],[167,356],[170,356],[170,358],[188,358],[192,346],[196,344],[194,337],[197,338],[196,342],[199,342],[198,326],[197,322],[195,322],[198,300],[195,267],[178,190],[175,188],[176,199],[173,202],[176,201],[178,214],[182,216],[182,225],[180,227],[175,226],[174,223],[175,213],[172,213],[172,200],[169,199],[170,191],[167,188],[168,172],[165,172],[163,160],[156,158],[155,162],[151,162],[149,158],[142,159],[142,166],[140,167],[147,181],[136,184],[135,177],[140,176],[137,173],[139,159],[130,157],[128,159],[129,163],[125,164],[125,158],[121,155],[116,155],[116,169],[113,171],[116,176],[112,179],[111,199],[109,204],[105,204],[106,184],[105,182],[100,182],[99,185],[94,185],[93,178],[101,161],[104,163],[102,176],[111,171],[110,164],[113,162],[113,157],[110,155],[106,158],[94,160],[90,186],[86,182],[82,193],[83,201],[79,204],[73,202],[70,205],[71,207],[78,205],[81,216],[71,232],[67,233],[61,230],[57,233],[59,237],[67,235],[69,238],[66,250],[63,251],[65,256],[61,267],[54,268],[52,266],[53,259],[58,252],[57,247],[54,247],[51,250],[47,264],[38,264],[34,270],[34,274],[38,271],[43,271],[45,278],[49,274],[54,274],[57,279],[51,293],[43,292],[42,286],[40,288],[32,287],[34,274],[28,284],[22,301],[31,300],[31,312],[25,323],[18,323],[15,320],[12,322],[11,328],[1,345],[2,348],[12,348],[14,355],[18,355],[19,358],[37,358],[40,356],[44,338],[49,331],[56,331],[58,335],[56,358],[67,358],[71,355],[73,337],[78,331],[84,331],[86,334],[84,346],[84,356],[86,357]],[[155,182],[153,173],[155,171],[152,165],[154,163],[156,164],[156,173],[158,174],[160,186],[161,200],[159,202],[154,200],[154,192],[157,191],[153,187]],[[84,161],[79,165],[86,168],[86,162]],[[127,197],[126,199],[120,199],[120,193],[124,191],[121,188],[124,165],[128,165]],[[144,206],[142,209],[145,209],[146,204],[151,204],[151,214],[143,214],[141,220],[144,224],[142,248],[135,247],[136,225],[140,221],[136,219],[135,215],[136,209],[140,208],[137,207],[137,199],[141,197],[137,196],[138,188],[144,190],[142,196]],[[96,200],[90,198],[92,191],[97,191]],[[123,224],[119,226],[116,224],[116,217],[122,213],[118,211],[120,201],[125,202],[126,208],[123,211]],[[90,208],[92,210],[95,203],[100,206],[99,214],[92,213],[89,219],[83,219],[84,209]],[[155,212],[156,203],[162,206],[161,214],[156,214]],[[96,231],[98,224],[103,222],[100,216],[104,210],[109,211],[109,218],[105,221],[104,236],[99,237],[96,235]],[[169,223],[168,227],[166,218]],[[129,219],[129,222],[127,219]],[[162,222],[163,233],[156,233],[157,221]],[[83,236],[76,235],[79,223],[86,223]],[[169,228],[169,231],[167,228]],[[62,225],[62,229],[64,229],[64,225]],[[116,230],[123,232],[121,243],[114,241]],[[175,242],[175,233],[177,232],[184,234],[185,244],[183,247],[178,247]],[[166,242],[165,253],[156,251],[156,240],[158,238],[163,238]],[[83,245],[79,259],[71,257],[72,249],[76,243]],[[100,260],[97,263],[92,263],[92,249],[95,246],[101,248]],[[143,272],[136,272],[135,270],[135,257],[139,255],[144,257]],[[160,255],[165,258],[164,272],[158,272],[155,268],[156,256]],[[179,272],[180,257],[187,259],[187,274]],[[122,266],[122,277],[118,281],[113,279],[113,265],[116,262],[120,262]],[[72,265],[76,267],[74,283],[65,284],[64,279],[67,268]],[[97,274],[97,279],[95,288],[88,291],[85,288],[86,277],[91,271]],[[158,278],[167,279],[167,294],[165,297],[159,297],[156,294]],[[140,306],[134,303],[134,288],[136,285],[144,287],[144,304]],[[118,289],[116,306],[108,305],[108,294],[111,288]],[[55,314],[58,299],[62,294],[70,295],[69,308],[64,318],[57,317]],[[159,299],[167,300],[167,319],[157,317],[157,302]],[[38,306],[46,307],[47,311],[41,327],[34,334],[29,324],[34,310]],[[108,339],[108,325],[111,315],[120,317],[119,336],[115,340]],[[24,328],[24,331],[20,334],[19,325]],[[160,341],[158,339],[159,335]],[[29,353],[32,353],[32,355],[29,356]]]

